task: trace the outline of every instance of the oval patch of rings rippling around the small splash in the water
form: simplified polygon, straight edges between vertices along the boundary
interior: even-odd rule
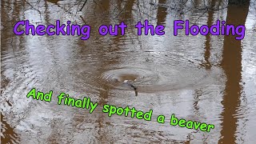
[[[139,92],[178,90],[196,85],[206,79],[206,70],[178,67],[122,67],[106,70],[101,78],[106,85],[119,90],[132,90],[124,81],[129,80]]]

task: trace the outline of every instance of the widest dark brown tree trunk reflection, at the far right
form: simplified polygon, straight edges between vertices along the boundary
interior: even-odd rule
[[[247,6],[228,6],[226,22],[235,26],[245,25],[248,14]],[[238,18],[236,18],[238,17]],[[238,117],[238,107],[240,105],[240,96],[242,95],[242,45],[241,41],[234,41],[232,36],[224,37],[223,55],[221,66],[226,74],[226,88],[223,95],[222,105],[222,138],[221,143],[235,143]],[[243,138],[242,138],[243,139]]]

